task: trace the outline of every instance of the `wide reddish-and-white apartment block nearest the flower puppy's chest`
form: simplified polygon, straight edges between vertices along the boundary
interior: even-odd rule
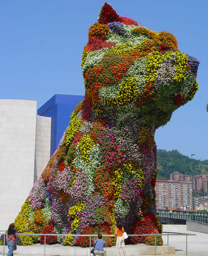
[[[156,180],[156,206],[192,207],[192,183],[186,181]]]

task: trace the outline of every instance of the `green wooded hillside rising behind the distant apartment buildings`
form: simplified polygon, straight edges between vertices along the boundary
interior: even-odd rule
[[[191,171],[191,161],[193,171]],[[177,150],[166,151],[164,149],[157,150],[157,179],[169,180],[170,173],[184,173],[188,175],[208,175],[208,160],[200,161],[190,159]]]

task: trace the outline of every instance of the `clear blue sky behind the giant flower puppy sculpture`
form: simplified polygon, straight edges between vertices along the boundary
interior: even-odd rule
[[[156,131],[158,149],[208,159],[208,1],[108,1],[120,16],[153,31],[168,30],[178,48],[201,61],[199,90]],[[3,0],[1,19],[1,99],[37,100],[39,108],[54,94],[84,95],[81,72],[88,28],[104,0]]]

